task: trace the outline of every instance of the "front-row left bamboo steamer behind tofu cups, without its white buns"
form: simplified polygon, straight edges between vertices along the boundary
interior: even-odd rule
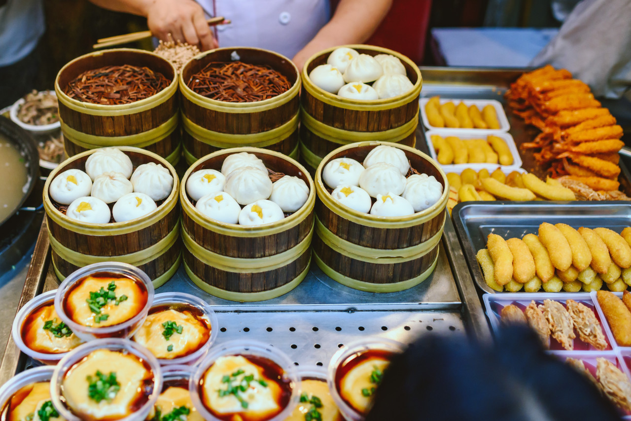
[[[85,162],[95,152],[89,150],[70,157],[52,170],[44,184],[44,210],[52,263],[59,280],[88,264],[117,261],[133,264],[159,287],[174,275],[182,259],[180,244],[179,179],[174,167],[155,153],[121,146],[131,158],[134,170],[148,162],[160,163],[174,177],[173,189],[158,208],[141,218],[126,222],[85,223],[68,218],[50,198],[53,179],[69,169],[85,171]]]

